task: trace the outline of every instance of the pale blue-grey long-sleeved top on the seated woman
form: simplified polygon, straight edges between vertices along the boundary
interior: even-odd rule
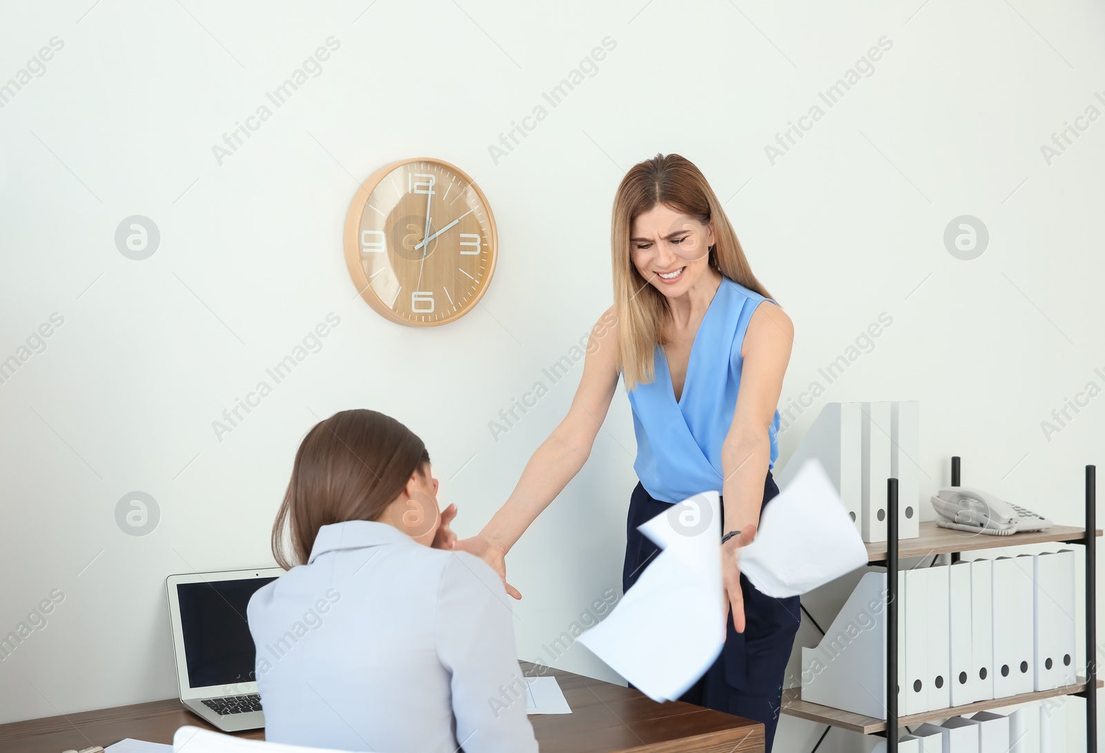
[[[272,742],[379,753],[530,753],[498,575],[387,523],[323,526],[248,617]]]

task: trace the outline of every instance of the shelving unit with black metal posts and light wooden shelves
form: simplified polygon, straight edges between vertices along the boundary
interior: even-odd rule
[[[800,688],[790,688],[782,693],[782,713],[799,719],[825,724],[829,729],[841,729],[861,732],[863,734],[880,734],[886,738],[887,753],[897,753],[898,730],[905,725],[919,724],[926,721],[958,717],[986,709],[997,709],[1017,703],[1054,698],[1056,696],[1080,696],[1086,699],[1086,751],[1097,753],[1097,693],[1096,688],[1103,687],[1097,679],[1097,606],[1096,606],[1096,544],[1102,534],[1096,527],[1096,467],[1086,466],[1086,524],[1084,528],[1070,526],[1052,526],[1044,531],[1014,533],[1013,535],[985,535],[967,531],[956,531],[938,527],[935,522],[920,524],[920,537],[898,541],[898,499],[897,479],[886,479],[886,533],[885,542],[867,544],[869,564],[886,566],[886,719],[876,719],[851,711],[842,711],[819,703],[803,701]],[[951,458],[951,486],[959,486],[959,458]],[[1092,532],[1092,533],[1091,533]],[[898,597],[897,573],[899,558],[925,556],[928,554],[951,554],[958,559],[961,552],[981,549],[999,549],[1045,542],[1062,542],[1083,544],[1086,548],[1085,572],[1085,617],[1086,617],[1086,671],[1080,675],[1080,682],[1053,690],[1041,690],[1019,696],[1006,696],[986,701],[976,701],[965,706],[955,706],[936,711],[898,717],[897,709],[897,657],[901,647],[897,645]],[[824,740],[824,734],[818,740],[813,751],[817,751]],[[813,753],[811,751],[811,753]]]

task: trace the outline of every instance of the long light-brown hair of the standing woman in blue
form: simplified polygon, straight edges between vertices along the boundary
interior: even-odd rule
[[[704,225],[713,220],[711,266],[765,298],[771,297],[753,274],[722,203],[698,168],[680,155],[656,155],[638,162],[618,187],[610,227],[614,311],[622,325],[618,364],[630,390],[638,382],[652,381],[655,348],[664,344],[663,325],[669,317],[667,299],[641,277],[630,256],[633,220],[657,204],[696,218]]]

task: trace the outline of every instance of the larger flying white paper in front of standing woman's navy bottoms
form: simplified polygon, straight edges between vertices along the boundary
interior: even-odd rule
[[[725,643],[720,505],[705,491],[640,526],[663,551],[579,641],[655,701],[675,700]]]

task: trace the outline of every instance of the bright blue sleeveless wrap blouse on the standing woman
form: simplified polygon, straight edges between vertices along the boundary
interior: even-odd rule
[[[764,300],[770,298],[723,277],[695,333],[678,402],[667,357],[659,344],[654,379],[627,390],[636,434],[633,469],[654,499],[681,502],[711,489],[722,494],[722,443],[740,390],[740,348],[753,312]],[[779,456],[777,410],[768,429],[768,468]]]

